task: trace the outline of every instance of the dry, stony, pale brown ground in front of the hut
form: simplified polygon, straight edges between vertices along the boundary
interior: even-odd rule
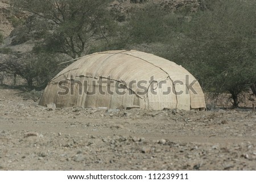
[[[0,170],[256,170],[256,111],[40,107],[0,89]]]

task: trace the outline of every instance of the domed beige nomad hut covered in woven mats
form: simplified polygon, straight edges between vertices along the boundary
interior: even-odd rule
[[[137,50],[79,58],[57,74],[39,105],[205,110],[199,82],[182,66]]]

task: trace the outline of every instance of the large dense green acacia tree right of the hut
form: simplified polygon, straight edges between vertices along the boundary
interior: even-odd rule
[[[208,9],[185,24],[175,60],[187,67],[208,91],[238,95],[256,81],[255,1],[207,1]],[[252,6],[254,5],[254,6]]]

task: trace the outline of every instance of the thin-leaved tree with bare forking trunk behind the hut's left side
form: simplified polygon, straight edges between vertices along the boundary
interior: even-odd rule
[[[12,0],[16,10],[31,12],[51,24],[44,45],[48,51],[76,58],[84,54],[92,38],[107,39],[112,32],[104,0]]]

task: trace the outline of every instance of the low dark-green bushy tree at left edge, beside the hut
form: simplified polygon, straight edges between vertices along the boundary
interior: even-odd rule
[[[44,88],[61,67],[50,54],[16,54],[0,63],[0,72],[19,75],[27,81],[29,89]]]

